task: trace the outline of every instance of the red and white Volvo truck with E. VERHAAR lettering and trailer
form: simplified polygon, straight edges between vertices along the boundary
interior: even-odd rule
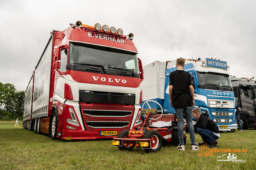
[[[143,68],[132,39],[98,23],[53,30],[26,89],[23,127],[66,140],[138,127]]]

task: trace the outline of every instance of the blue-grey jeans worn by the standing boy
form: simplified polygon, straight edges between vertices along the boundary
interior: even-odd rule
[[[177,121],[178,121],[178,133],[179,133],[180,145],[184,145],[183,110],[186,115],[186,123],[188,124],[188,131],[189,131],[189,135],[190,135],[191,144],[195,145],[196,137],[195,137],[194,127],[193,127],[193,122],[192,122],[192,106],[175,107],[174,109],[175,109]]]

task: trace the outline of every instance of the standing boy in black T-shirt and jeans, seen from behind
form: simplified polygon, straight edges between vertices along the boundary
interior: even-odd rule
[[[183,70],[184,66],[185,59],[183,59],[182,57],[178,58],[176,60],[177,70],[170,73],[169,83],[170,105],[174,107],[178,120],[178,134],[180,144],[178,145],[177,149],[185,150],[183,133],[184,110],[184,113],[186,115],[186,123],[188,124],[192,150],[199,150],[199,147],[196,143],[196,137],[192,122],[192,108],[195,106],[194,88],[192,86],[190,73]]]

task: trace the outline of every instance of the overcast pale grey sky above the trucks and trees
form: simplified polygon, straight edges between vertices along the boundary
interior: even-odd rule
[[[52,30],[81,21],[134,34],[143,65],[217,58],[256,77],[255,0],[1,0],[0,82],[26,90]]]

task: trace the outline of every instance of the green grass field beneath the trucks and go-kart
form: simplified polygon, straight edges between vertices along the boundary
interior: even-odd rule
[[[15,121],[0,121],[0,169],[1,170],[240,170],[256,169],[256,130],[221,133],[218,149],[213,156],[198,156],[191,150],[189,133],[185,151],[164,144],[156,153],[146,154],[141,148],[121,151],[112,140],[63,141],[51,140],[20,127]],[[202,142],[196,135],[196,142]],[[225,150],[226,149],[226,150]],[[229,151],[244,162],[222,162]],[[238,152],[234,152],[238,151]],[[235,150],[238,149],[238,150]],[[239,149],[241,152],[239,152]],[[244,149],[244,152],[242,150]],[[246,150],[246,152],[245,152]],[[225,155],[226,154],[226,155]],[[221,156],[221,157],[219,157]]]

